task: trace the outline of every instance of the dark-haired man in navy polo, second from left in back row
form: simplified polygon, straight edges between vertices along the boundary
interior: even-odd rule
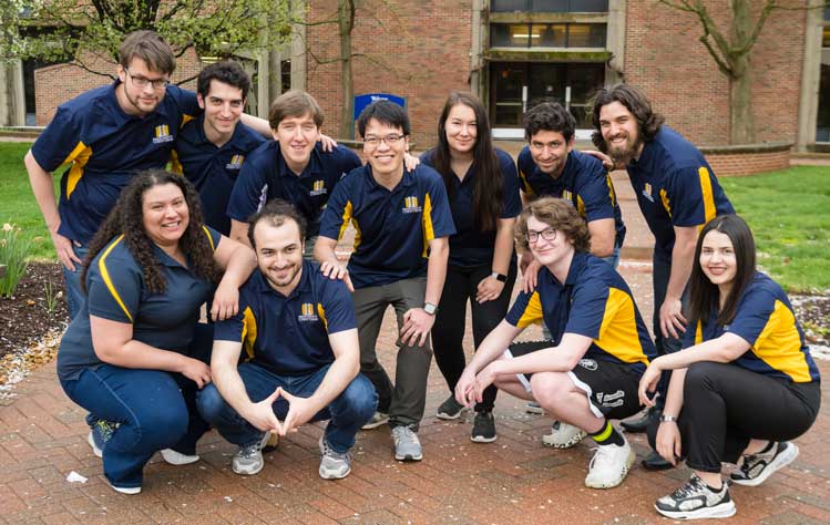
[[[230,235],[226,214],[243,163],[265,142],[242,117],[250,79],[237,62],[216,62],[203,69],[196,99],[203,113],[184,125],[176,138],[173,168],[196,186],[205,224]]]

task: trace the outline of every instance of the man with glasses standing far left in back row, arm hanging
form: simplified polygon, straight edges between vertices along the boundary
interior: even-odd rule
[[[171,85],[176,60],[153,31],[134,31],[119,49],[117,80],[58,107],[25,155],[34,197],[66,280],[70,318],[81,307],[86,243],[121,189],[142,169],[164,167],[178,128],[198,112],[196,96]],[[55,205],[51,173],[61,177]]]

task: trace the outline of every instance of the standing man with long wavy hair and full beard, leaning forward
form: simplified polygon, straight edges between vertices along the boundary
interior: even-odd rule
[[[663,124],[643,91],[628,84],[601,90],[594,99],[592,140],[628,172],[643,216],[655,237],[653,258],[654,337],[658,356],[680,349],[686,329],[683,298],[691,272],[700,227],[735,209],[698,148]],[[662,415],[668,377],[658,387],[657,403],[638,420],[623,423],[644,432]],[[660,424],[674,424],[670,421]],[[643,462],[668,469],[656,452]]]

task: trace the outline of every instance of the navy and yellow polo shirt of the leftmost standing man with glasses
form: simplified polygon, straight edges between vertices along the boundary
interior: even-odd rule
[[[119,82],[90,90],[61,104],[32,145],[40,167],[61,177],[58,233],[88,243],[136,172],[163,168],[180,127],[201,110],[195,93],[167,86],[144,117],[127,115],[115,99]]]

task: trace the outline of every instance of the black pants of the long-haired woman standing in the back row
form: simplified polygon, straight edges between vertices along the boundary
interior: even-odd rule
[[[441,370],[450,392],[464,371],[464,325],[467,318],[467,301],[470,301],[473,321],[473,344],[479,348],[481,341],[495,328],[508,312],[513,285],[516,280],[516,265],[510,266],[508,281],[501,295],[484,303],[475,300],[477,287],[482,279],[492,274],[490,265],[474,268],[447,267],[447,280],[441,292],[436,323],[432,326],[432,351],[436,362]],[[495,403],[498,389],[492,384],[484,390],[482,403],[475,405],[475,411],[491,411]]]

